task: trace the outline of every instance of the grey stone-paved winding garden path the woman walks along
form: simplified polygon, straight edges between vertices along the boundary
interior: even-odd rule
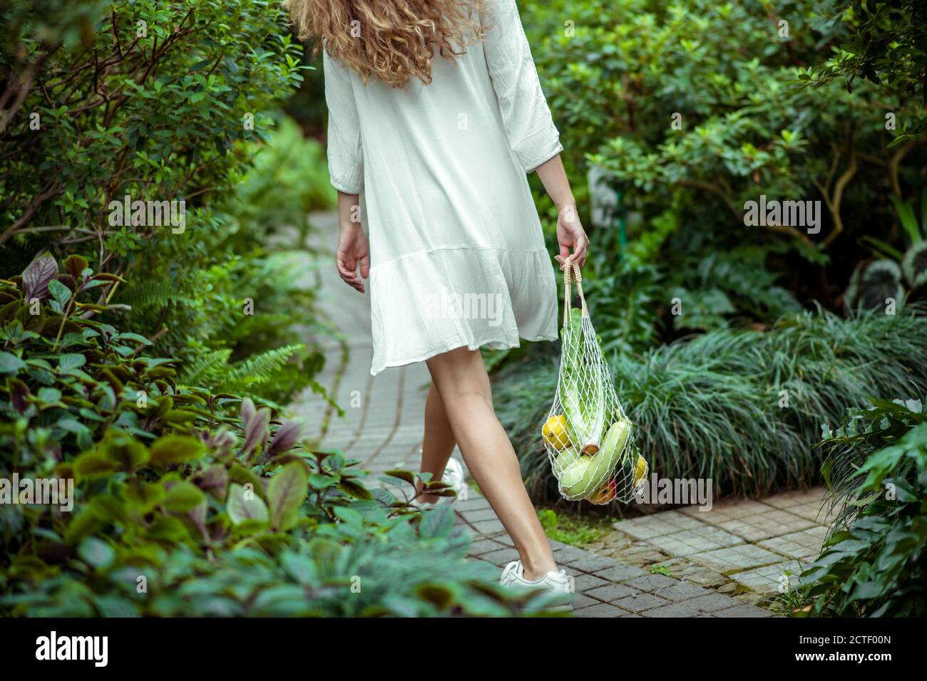
[[[316,214],[311,221],[323,239],[313,246],[332,251],[337,240],[335,216]],[[429,380],[425,364],[387,369],[372,377],[369,294],[362,296],[342,284],[332,264],[322,278],[320,297],[342,338],[326,345],[327,361],[319,381],[331,390],[345,416],[339,418],[324,400],[308,393],[293,405],[309,426],[307,435],[315,435],[324,447],[341,448],[374,473],[394,468],[417,471]],[[463,460],[457,451],[454,456]],[[471,489],[469,498],[459,499],[454,508],[457,522],[472,536],[473,560],[502,568],[517,558],[512,540],[485,498]],[[645,527],[645,523],[640,524],[641,531]],[[575,578],[573,606],[580,617],[772,615],[764,608],[684,579],[652,574],[642,567],[559,542],[552,545],[557,562]]]

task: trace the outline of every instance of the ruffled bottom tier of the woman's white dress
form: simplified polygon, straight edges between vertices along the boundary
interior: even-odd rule
[[[371,271],[371,374],[457,347],[519,347],[557,339],[557,297],[547,250],[446,247]]]

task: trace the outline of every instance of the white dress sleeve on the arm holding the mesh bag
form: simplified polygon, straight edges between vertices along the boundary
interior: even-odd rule
[[[515,0],[489,0],[483,51],[509,146],[526,172],[561,151]]]

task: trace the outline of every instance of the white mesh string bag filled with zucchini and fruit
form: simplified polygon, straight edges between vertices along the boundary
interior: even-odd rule
[[[570,306],[576,281],[580,309]],[[557,389],[542,429],[544,448],[563,498],[604,505],[628,503],[647,477],[611,372],[595,334],[582,275],[571,259],[564,268],[563,348]]]

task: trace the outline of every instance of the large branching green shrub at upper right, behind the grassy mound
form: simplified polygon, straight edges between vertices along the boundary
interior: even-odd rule
[[[803,70],[866,31],[851,16],[827,21],[835,4],[527,4],[532,55],[580,206],[582,178],[596,166],[627,217],[629,246],[619,246],[616,225],[590,233],[590,286],[614,318],[600,324],[614,334],[603,342],[642,351],[692,330],[768,326],[812,301],[842,309],[841,292],[870,258],[866,239],[902,240],[890,197],[920,192],[927,152],[913,139],[885,147],[901,121],[923,116],[913,84],[922,65],[883,54],[877,70],[911,73],[855,82],[852,92],[833,78],[802,87]],[[887,3],[876,5],[879,32],[898,37],[898,54],[916,55],[921,22],[902,15],[922,13],[901,3],[885,19]],[[882,45],[870,37],[871,48]],[[889,112],[898,131],[886,130]],[[746,226],[744,203],[760,195],[820,201],[820,233]],[[628,258],[658,267],[657,276],[624,271],[618,261]],[[690,314],[671,317],[674,298]]]

